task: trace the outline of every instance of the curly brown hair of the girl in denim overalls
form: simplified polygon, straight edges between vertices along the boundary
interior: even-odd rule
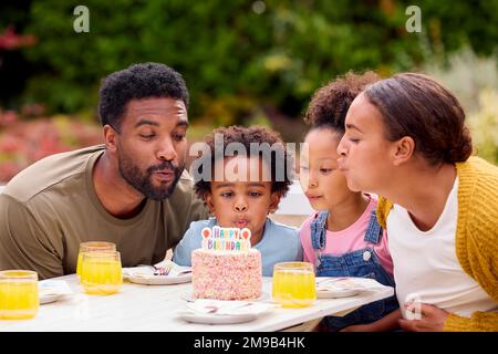
[[[373,71],[363,74],[350,71],[338,76],[314,92],[304,122],[313,128],[330,127],[344,134],[344,121],[351,103],[366,86],[380,80]]]

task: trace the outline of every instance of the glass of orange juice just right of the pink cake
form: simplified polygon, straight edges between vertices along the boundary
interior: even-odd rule
[[[305,308],[317,299],[313,264],[282,262],[273,266],[273,301],[283,308]]]

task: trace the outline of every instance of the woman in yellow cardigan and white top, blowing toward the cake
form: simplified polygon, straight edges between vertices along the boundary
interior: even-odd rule
[[[338,146],[347,186],[383,196],[407,331],[498,331],[498,168],[470,157],[464,121],[434,80],[398,74],[354,100]]]

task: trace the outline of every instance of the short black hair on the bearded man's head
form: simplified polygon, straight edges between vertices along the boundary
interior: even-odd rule
[[[181,75],[159,63],[134,64],[112,73],[102,81],[98,92],[102,126],[120,132],[126,105],[132,100],[170,97],[181,100],[188,108],[188,90]]]

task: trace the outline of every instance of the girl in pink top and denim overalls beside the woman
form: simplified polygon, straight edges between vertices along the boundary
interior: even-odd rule
[[[336,148],[344,134],[344,118],[354,97],[377,80],[373,72],[346,74],[320,88],[313,96],[305,121],[311,124],[302,155],[301,186],[311,206],[319,210],[301,226],[304,260],[315,266],[318,277],[366,277],[394,287],[393,264],[386,233],[375,217],[374,196],[347,188],[339,171]],[[329,316],[332,331],[391,330],[395,321],[373,323],[398,308],[394,296],[364,305],[343,316]]]

